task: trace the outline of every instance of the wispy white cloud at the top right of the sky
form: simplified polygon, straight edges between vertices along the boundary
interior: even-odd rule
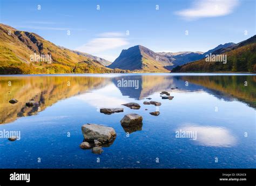
[[[199,0],[192,8],[176,12],[186,19],[199,19],[204,17],[225,16],[233,12],[238,0]]]

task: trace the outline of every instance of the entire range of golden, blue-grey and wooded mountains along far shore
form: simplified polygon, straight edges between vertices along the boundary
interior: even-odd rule
[[[238,44],[219,45],[205,53],[153,52],[137,45],[123,49],[111,63],[88,53],[57,46],[35,33],[0,24],[0,74],[252,72],[256,71],[255,37]],[[227,54],[227,64],[206,62],[206,55],[210,53]],[[50,56],[51,61],[45,61],[44,56]]]

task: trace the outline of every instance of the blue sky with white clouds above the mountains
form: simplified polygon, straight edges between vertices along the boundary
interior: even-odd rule
[[[122,49],[206,52],[255,35],[254,0],[0,0],[0,22],[114,61]]]

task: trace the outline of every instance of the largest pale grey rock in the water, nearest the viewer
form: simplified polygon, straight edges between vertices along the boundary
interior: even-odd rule
[[[93,142],[97,140],[102,144],[109,143],[116,138],[114,128],[97,124],[85,124],[82,126],[84,141]]]

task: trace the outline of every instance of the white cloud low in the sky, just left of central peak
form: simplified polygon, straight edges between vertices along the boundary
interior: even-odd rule
[[[77,47],[76,50],[93,54],[104,52],[128,44],[129,42],[125,38],[95,38],[87,42],[87,44]]]

